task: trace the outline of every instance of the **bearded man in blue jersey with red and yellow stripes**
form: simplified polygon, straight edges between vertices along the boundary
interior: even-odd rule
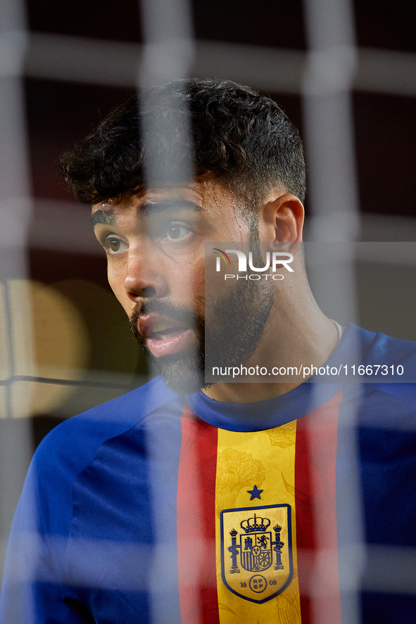
[[[187,125],[142,144],[135,99],[61,169],[92,205],[109,282],[161,378],[40,445],[1,621],[407,624],[414,596],[356,590],[363,540],[415,547],[415,387],[391,383],[415,371],[414,345],[317,307],[301,141],[275,102],[209,80],[151,90],[144,116],[149,102],[168,122],[172,102],[189,110],[193,181],[154,182],[146,157],[168,170]],[[390,383],[328,378],[355,364],[393,366]]]

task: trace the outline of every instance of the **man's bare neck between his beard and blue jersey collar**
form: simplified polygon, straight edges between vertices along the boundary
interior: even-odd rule
[[[275,304],[258,348],[245,366],[259,364],[268,370],[273,367],[319,368],[327,361],[338,344],[336,326],[321,312],[309,289],[302,291],[303,298],[296,298],[296,305],[290,305],[290,299],[287,305],[282,299]],[[284,395],[306,379],[307,376],[284,383],[215,383],[203,393],[217,401],[250,403]]]

